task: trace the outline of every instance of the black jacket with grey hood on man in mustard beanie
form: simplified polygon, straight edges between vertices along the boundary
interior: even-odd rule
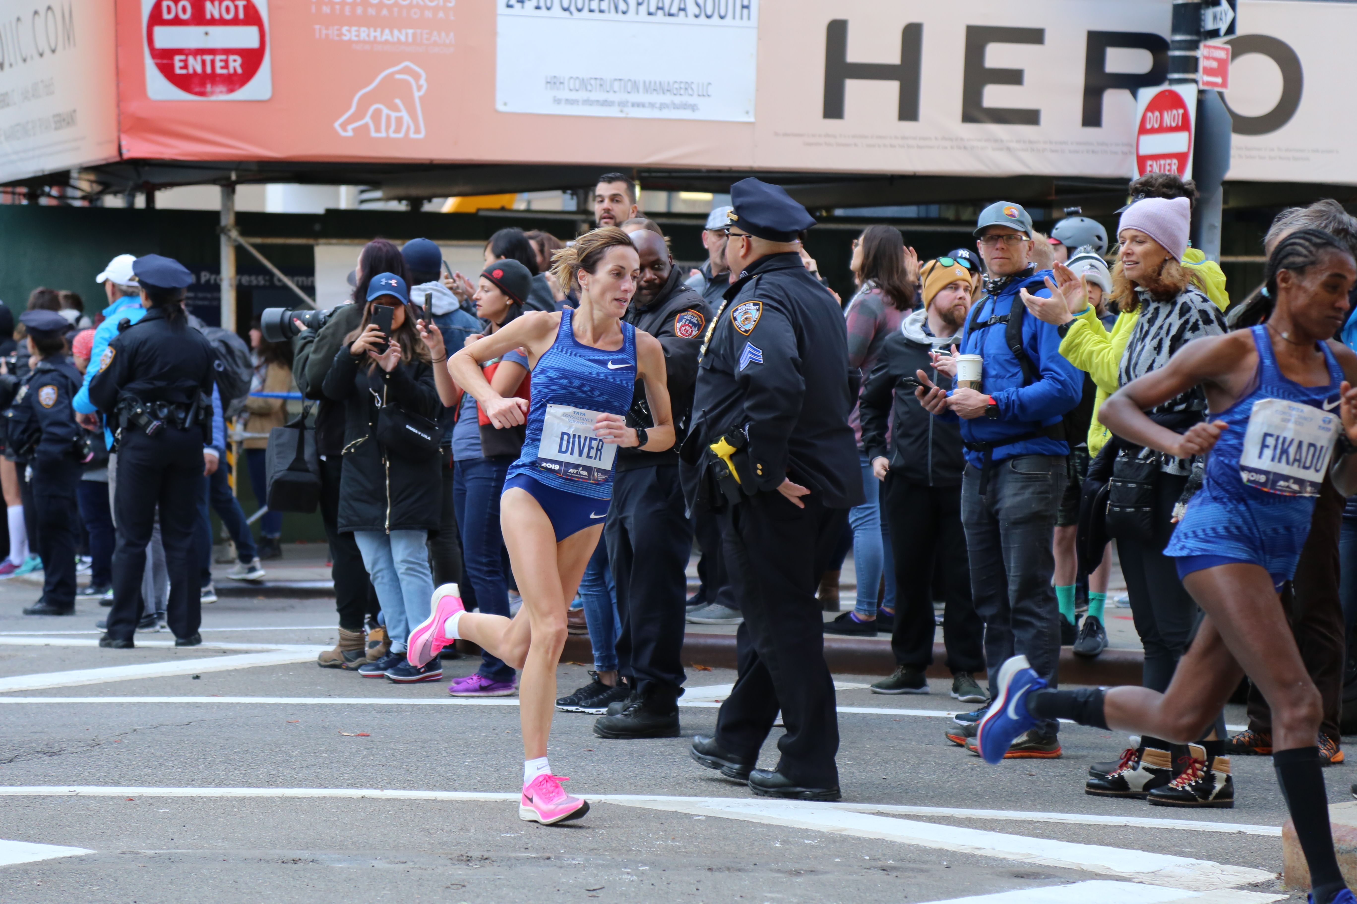
[[[892,480],[927,487],[961,487],[966,459],[961,446],[961,422],[934,417],[904,384],[924,371],[935,385],[951,389],[951,379],[934,370],[928,351],[946,351],[955,337],[936,339],[924,332],[927,312],[905,317],[901,329],[886,336],[881,359],[862,389],[862,443],[868,461],[890,459]],[[892,417],[892,403],[894,416]],[[890,450],[886,450],[887,419]]]

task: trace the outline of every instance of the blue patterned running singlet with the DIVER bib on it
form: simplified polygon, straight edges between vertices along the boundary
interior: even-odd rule
[[[552,489],[589,499],[612,497],[617,446],[594,436],[598,415],[626,415],[636,386],[636,329],[622,324],[622,348],[585,346],[560,312],[556,342],[532,369],[528,432],[508,477],[527,474]]]

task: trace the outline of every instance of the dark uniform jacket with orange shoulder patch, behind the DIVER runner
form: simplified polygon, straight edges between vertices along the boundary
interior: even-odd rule
[[[692,389],[697,379],[697,352],[702,350],[702,336],[711,323],[711,308],[696,291],[683,285],[678,268],[669,271],[660,294],[645,308],[632,300],[622,317],[636,329],[642,329],[665,348],[665,379],[669,385],[669,408],[674,417],[674,445],[662,453],[647,453],[639,449],[617,450],[617,470],[632,468],[653,468],[655,465],[677,465],[678,446],[692,416]],[[639,415],[639,417],[638,417]],[[631,427],[654,427],[655,422],[646,404],[646,386],[636,381],[631,396],[631,411],[627,415]]]

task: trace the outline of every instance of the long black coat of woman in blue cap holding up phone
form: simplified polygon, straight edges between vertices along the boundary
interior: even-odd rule
[[[395,458],[376,436],[377,398],[429,420],[438,416],[433,369],[415,359],[389,374],[381,367],[369,371],[369,359],[350,355],[349,344],[335,352],[324,378],[326,396],[343,403],[345,413],[339,531],[438,530],[442,462],[437,455],[422,462]]]

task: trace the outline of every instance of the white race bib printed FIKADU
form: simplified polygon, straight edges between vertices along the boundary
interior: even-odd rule
[[[1337,411],[1262,398],[1248,415],[1239,476],[1270,493],[1318,496],[1339,427]]]

